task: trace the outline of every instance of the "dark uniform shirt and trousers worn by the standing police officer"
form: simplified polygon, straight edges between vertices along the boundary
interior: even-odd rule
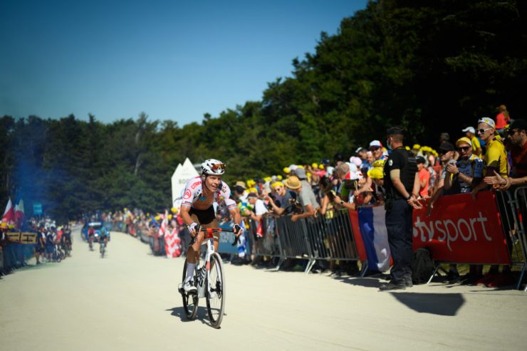
[[[408,194],[412,194],[417,163],[414,156],[404,147],[393,150],[384,168],[387,196],[385,220],[393,258],[393,267],[390,271],[391,283],[404,286],[405,283],[409,285],[412,281],[412,206],[393,185],[390,171],[394,169],[400,169],[401,182]]]

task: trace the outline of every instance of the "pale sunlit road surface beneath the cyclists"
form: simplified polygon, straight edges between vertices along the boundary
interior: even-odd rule
[[[226,315],[184,317],[182,258],[113,232],[108,256],[74,232],[73,256],[0,281],[0,350],[525,350],[527,293],[224,265]]]

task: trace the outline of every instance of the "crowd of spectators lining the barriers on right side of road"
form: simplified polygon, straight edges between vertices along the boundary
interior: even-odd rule
[[[492,187],[506,191],[527,184],[527,122],[511,120],[503,105],[494,119],[482,117],[474,122],[474,126],[459,130],[452,139],[448,133],[440,133],[435,149],[418,144],[405,146],[417,162],[419,200],[426,204],[428,214],[434,211],[439,197],[471,193],[477,199],[478,192],[484,189]],[[335,154],[333,159],[320,162],[290,164],[283,168],[282,174],[240,179],[229,184],[231,197],[237,202],[246,224],[253,221],[256,226],[264,216],[290,216],[291,221],[298,221],[315,216],[330,217],[338,209],[381,206],[386,199],[383,169],[389,154],[390,150],[380,140],[372,140],[365,147],[358,147],[350,157]],[[216,215],[220,223],[229,221],[228,211],[221,207],[216,209]],[[152,215],[125,209],[105,216],[116,225],[125,223],[124,231],[132,235],[140,230],[148,236],[158,235],[162,220],[167,216],[170,229],[177,231],[182,241],[188,240],[177,209]],[[184,243],[182,247],[186,247]],[[261,263],[254,256],[244,256],[241,252],[233,262]],[[317,268],[351,274],[357,273],[354,264],[333,261]],[[470,266],[469,273],[460,277],[457,266],[452,264],[447,280],[486,286],[511,283],[510,268],[503,267],[501,274],[498,272],[498,267],[492,266],[484,276],[482,266]]]

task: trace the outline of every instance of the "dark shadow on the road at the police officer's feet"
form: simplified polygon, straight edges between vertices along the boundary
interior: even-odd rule
[[[419,313],[454,316],[465,303],[460,293],[391,293],[400,303]]]

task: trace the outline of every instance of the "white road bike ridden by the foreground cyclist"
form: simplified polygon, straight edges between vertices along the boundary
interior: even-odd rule
[[[207,253],[204,259],[200,259],[202,264],[196,263],[194,268],[194,277],[192,281],[197,288],[197,293],[185,293],[183,289],[185,278],[187,278],[187,259],[185,258],[183,266],[183,279],[179,285],[179,293],[183,298],[183,308],[187,318],[194,319],[197,315],[199,298],[205,298],[207,301],[207,312],[209,313],[209,320],[214,328],[219,328],[221,319],[225,310],[225,273],[221,263],[219,253],[214,251],[214,240],[219,240],[220,233],[229,232],[234,233],[233,229],[223,228],[198,228],[197,232],[204,231],[205,236],[202,245],[207,245]],[[189,246],[195,241],[192,238]],[[232,245],[236,245],[238,239],[234,237]]]

